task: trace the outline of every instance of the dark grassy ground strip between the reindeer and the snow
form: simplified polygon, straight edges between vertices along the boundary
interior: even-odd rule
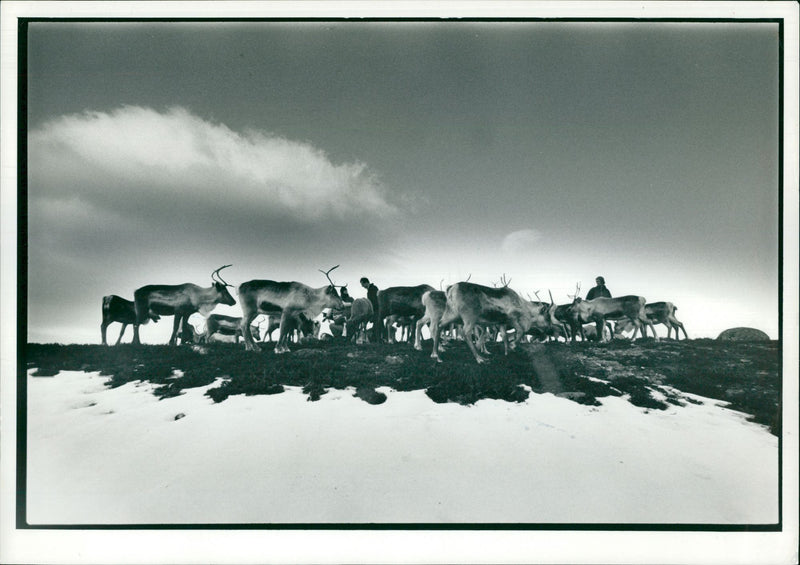
[[[147,380],[159,385],[159,397],[220,379],[207,393],[216,402],[233,394],[277,394],[284,386],[302,386],[309,400],[330,388],[353,387],[359,398],[380,404],[386,396],[376,388],[388,386],[425,390],[434,402],[521,402],[529,394],[526,385],[582,404],[627,395],[636,406],[663,410],[692,402],[682,391],[729,402],[780,433],[781,348],[774,341],[524,344],[508,356],[500,344],[490,344],[493,355],[484,365],[474,362],[463,342],[449,345],[443,363],[429,357],[430,342],[423,345],[419,352],[408,344],[311,342],[275,355],[268,347],[249,352],[224,343],[203,348],[29,344],[25,363],[37,369],[35,376],[100,371],[112,387]]]

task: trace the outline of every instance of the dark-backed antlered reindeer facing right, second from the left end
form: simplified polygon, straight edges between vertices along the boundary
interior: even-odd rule
[[[219,272],[230,267],[223,265],[211,273],[212,284],[203,288],[192,283],[179,285],[147,285],[138,288],[133,293],[133,303],[136,309],[136,321],[133,326],[133,343],[139,344],[139,326],[150,320],[157,322],[160,316],[174,316],[172,335],[169,344],[177,342],[178,330],[183,324],[188,324],[188,318],[195,312],[203,317],[214,309],[217,304],[233,306],[236,301],[228,292],[227,287],[233,286],[225,282]]]

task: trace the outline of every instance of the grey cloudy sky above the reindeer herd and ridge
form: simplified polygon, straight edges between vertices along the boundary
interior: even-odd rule
[[[769,23],[32,23],[28,339],[97,343],[103,295],[228,263],[339,264],[356,297],[604,275],[690,337],[777,338],[778,50]]]

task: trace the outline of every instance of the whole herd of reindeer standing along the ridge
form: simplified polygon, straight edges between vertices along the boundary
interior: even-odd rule
[[[125,329],[133,325],[133,343],[139,344],[139,326],[150,321],[157,322],[161,316],[173,316],[170,345],[182,341],[210,341],[214,334],[233,336],[238,342],[241,337],[248,350],[258,350],[261,339],[259,327],[253,324],[261,314],[277,323],[279,337],[275,345],[276,353],[289,351],[289,338],[295,331],[309,334],[313,328],[312,320],[323,310],[349,311],[345,317],[345,328],[351,337],[368,321],[374,321],[376,335],[383,336],[386,326],[393,322],[405,321],[414,330],[414,347],[422,350],[422,328],[429,327],[433,338],[431,357],[441,361],[440,337],[444,330],[458,326],[472,355],[478,363],[483,363],[486,343],[499,336],[505,346],[513,347],[525,335],[538,339],[557,339],[563,337],[573,342],[580,336],[587,339],[590,330],[598,340],[610,339],[611,335],[621,336],[633,331],[631,339],[637,335],[646,337],[645,328],[658,340],[654,324],[667,326],[667,337],[675,330],[682,330],[688,339],[683,324],[675,318],[677,308],[671,302],[648,304],[641,296],[622,296],[618,298],[595,298],[582,300],[576,289],[573,301],[569,304],[555,304],[552,294],[550,302],[526,300],[509,287],[505,275],[502,286],[483,286],[467,281],[458,282],[446,291],[422,284],[418,286],[389,287],[378,292],[378,312],[374,313],[372,304],[366,299],[352,300],[347,293],[347,285],[337,286],[330,273],[338,267],[320,272],[328,279],[328,284],[313,288],[299,282],[277,282],[272,280],[251,280],[237,288],[242,317],[212,314],[217,304],[233,306],[236,300],[228,284],[220,276],[220,271],[230,267],[224,265],[211,274],[210,287],[200,287],[192,283],[181,285],[147,285],[133,293],[133,301],[116,295],[103,297],[103,321],[100,326],[102,343],[107,344],[106,330],[109,324],[119,322],[122,329],[117,344],[122,340]],[[340,289],[340,290],[337,290]],[[538,298],[538,295],[537,295]],[[188,322],[189,316],[199,313],[206,318],[206,330],[198,333]],[[377,315],[376,315],[377,314]],[[612,328],[609,321],[614,321]],[[592,327],[590,324],[594,324]],[[609,333],[606,334],[606,328]],[[266,335],[271,335],[274,327],[268,327]],[[613,333],[612,333],[613,332]],[[389,331],[389,341],[394,332]],[[513,336],[514,341],[510,341]],[[409,331],[410,339],[410,331]]]

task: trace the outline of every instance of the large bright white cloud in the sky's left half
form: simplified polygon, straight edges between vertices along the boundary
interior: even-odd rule
[[[336,164],[309,143],[236,132],[179,107],[62,116],[30,133],[29,156],[31,189],[42,196],[75,190],[143,212],[165,195],[220,213],[309,221],[395,210],[363,163]]]

